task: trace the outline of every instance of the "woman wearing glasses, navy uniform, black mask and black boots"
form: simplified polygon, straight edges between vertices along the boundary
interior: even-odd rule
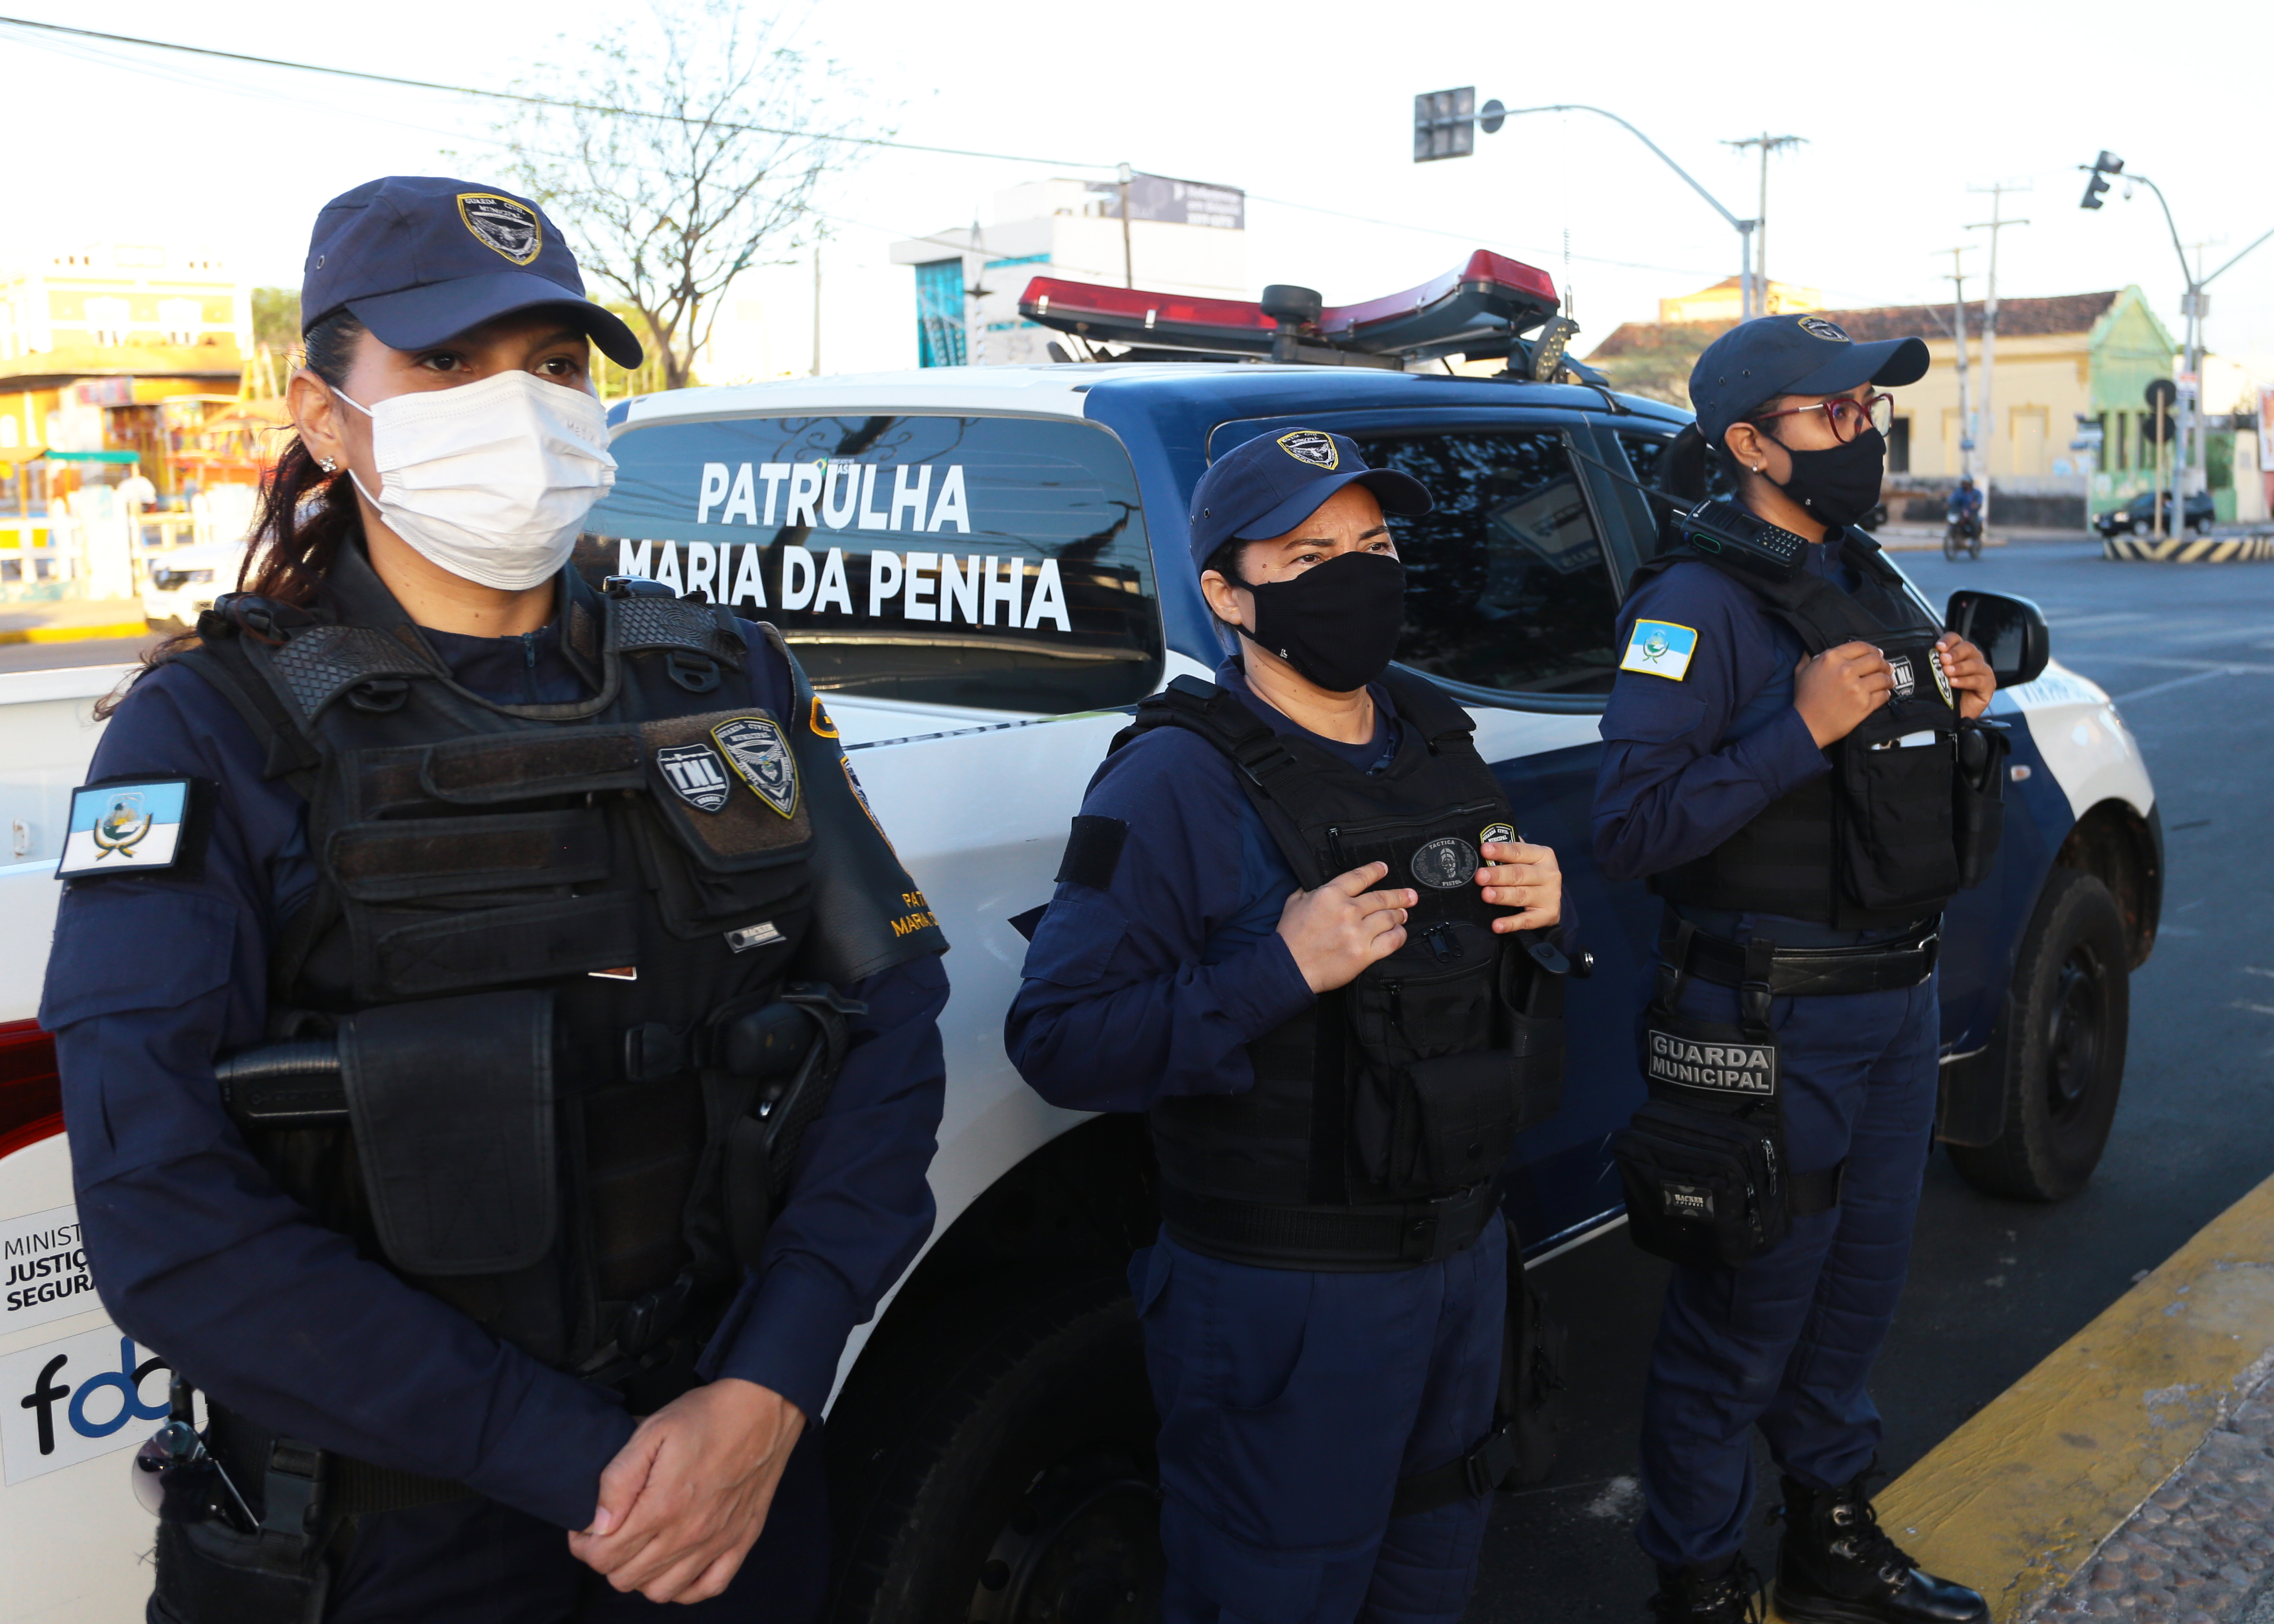
[[[1790,1233],[1767,1251],[1742,1267],[1676,1267],[1667,1290],[1640,1528],[1660,1619],[1751,1617],[1740,1549],[1756,1426],[1783,1469],[1783,1617],[1987,1619],[1976,1592],[1917,1572],[1867,1494],[1881,1424],[1865,1383],[1903,1290],[1935,1117],[1933,951],[1940,894],[1956,889],[1953,789],[1949,769],[1919,776],[1919,828],[1940,810],[1942,851],[1867,853],[1885,896],[1860,894],[1858,869],[1840,867],[1840,842],[1874,828],[1874,807],[1844,796],[1860,751],[1869,767],[1933,769],[1931,751],[1949,753],[1958,719],[1981,716],[1994,691],[1981,653],[1940,632],[1856,528],[1885,471],[1890,396],[1876,391],[1926,364],[1919,339],[1853,343],[1821,316],[1767,316],[1717,339],[1690,375],[1699,432],[1708,457],[1728,459],[1737,503],[1796,553],[1792,580],[1767,587],[1776,571],[1731,569],[1728,548],[1683,548],[1644,571],[1619,619],[1596,857],[1608,878],[1646,876],[1667,898],[1676,1019],[1740,1030],[1746,948],[1774,942],[1783,1137],[1794,1190],[1817,1192],[1794,1196]],[[1810,603],[1826,625],[1846,616],[1874,635],[1819,635],[1792,614]]]

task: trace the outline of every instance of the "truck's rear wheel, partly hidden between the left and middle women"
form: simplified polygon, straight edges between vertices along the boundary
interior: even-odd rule
[[[905,1337],[928,1356],[898,1381],[919,1397],[862,1424],[885,1442],[866,1503],[839,1503],[844,1624],[1160,1617],[1157,1422],[1128,1283],[1078,1281],[996,1326],[962,1353]]]

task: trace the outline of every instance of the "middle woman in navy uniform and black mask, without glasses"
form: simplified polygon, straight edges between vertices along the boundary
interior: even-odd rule
[[[1160,1155],[1130,1285],[1169,1624],[1451,1624],[1512,1467],[1496,1174],[1524,1067],[1464,1021],[1524,985],[1512,933],[1558,923],[1562,878],[1467,712],[1389,669],[1385,514],[1428,505],[1321,430],[1203,475],[1194,569],[1239,653],[1117,739],[1005,1024],[1044,1099],[1142,1110]]]

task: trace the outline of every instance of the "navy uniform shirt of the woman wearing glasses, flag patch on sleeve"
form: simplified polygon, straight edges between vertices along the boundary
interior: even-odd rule
[[[1853,589],[1837,530],[1803,569]],[[1653,621],[1687,664],[1637,653]],[[1626,651],[1603,707],[1603,769],[1594,789],[1594,860],[1612,880],[1640,880],[1703,857],[1771,801],[1831,771],[1792,705],[1801,639],[1712,564],[1683,562],[1635,589],[1619,612]],[[1646,664],[1653,669],[1633,669]],[[1721,921],[1724,928],[1726,921]],[[1794,933],[1781,937],[1796,942]]]

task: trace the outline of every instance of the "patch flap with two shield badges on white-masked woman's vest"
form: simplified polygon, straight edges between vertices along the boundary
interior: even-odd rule
[[[639,723],[639,737],[653,801],[705,869],[762,869],[796,855],[812,839],[789,735],[769,712],[659,716]],[[712,771],[725,787],[723,798],[709,780]]]

